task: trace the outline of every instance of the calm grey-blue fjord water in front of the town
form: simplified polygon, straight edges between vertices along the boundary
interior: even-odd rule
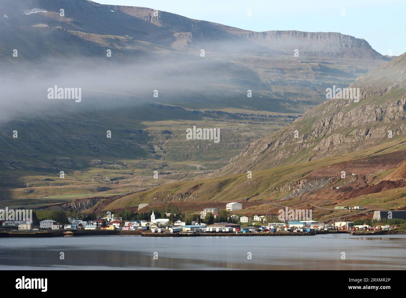
[[[252,259],[247,259],[248,252]],[[1,270],[107,268],[405,270],[406,235],[0,238]]]

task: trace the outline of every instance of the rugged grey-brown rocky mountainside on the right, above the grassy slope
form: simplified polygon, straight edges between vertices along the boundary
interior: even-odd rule
[[[406,53],[354,81],[359,102],[329,99],[246,147],[216,174],[266,169],[369,148],[406,135]],[[296,136],[295,137],[295,132]]]

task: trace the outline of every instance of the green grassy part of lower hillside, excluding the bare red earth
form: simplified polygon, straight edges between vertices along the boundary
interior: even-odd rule
[[[318,167],[341,163],[343,161],[350,161],[368,155],[384,154],[402,150],[406,148],[405,143],[401,144],[401,142],[405,140],[406,138],[402,140],[393,140],[389,144],[381,144],[359,152],[326,157],[307,163],[285,165],[268,170],[254,171],[252,173],[252,179],[247,179],[246,174],[235,174],[218,178],[163,184],[148,191],[117,199],[106,208],[114,210],[124,207],[134,207],[139,203],[156,204],[158,202],[176,202],[176,199],[173,200],[173,195],[176,194],[186,194],[187,199],[185,200],[182,198],[179,202],[190,202],[193,200],[196,202],[231,202],[251,197],[257,193],[259,193],[259,195],[253,198],[253,200],[264,201],[267,198],[280,199],[287,195],[288,192],[275,191],[276,187],[282,187],[290,182],[294,182]],[[378,151],[380,152],[376,153]],[[192,196],[187,195],[193,187],[199,184],[202,185],[198,190],[191,193]],[[158,198],[158,200],[156,198]]]

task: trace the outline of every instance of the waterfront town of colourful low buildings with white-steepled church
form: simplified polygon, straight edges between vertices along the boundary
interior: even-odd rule
[[[338,207],[350,208],[350,207]],[[353,209],[363,209],[363,206],[354,206]],[[204,208],[197,220],[188,222],[184,219],[173,220],[172,213],[165,213],[169,218],[156,218],[154,210],[150,212],[149,220],[127,220],[121,216],[95,217],[94,219],[78,219],[69,217],[66,223],[54,219],[43,219],[38,223],[29,221],[2,221],[2,228],[9,232],[50,232],[61,230],[67,232],[78,230],[101,230],[101,231],[134,231],[134,234],[142,236],[158,236],[165,234],[193,235],[200,233],[228,233],[228,234],[272,234],[280,232],[280,235],[289,233],[308,233],[315,235],[316,232],[335,233],[353,231],[395,231],[404,225],[406,211],[375,211],[371,223],[351,221],[337,221],[322,223],[313,220],[281,219],[265,215],[237,216],[232,213],[242,210],[242,203],[227,203],[225,209],[219,207]],[[296,210],[297,211],[297,210]],[[304,211],[303,211],[304,212]],[[388,212],[390,220],[387,220]],[[110,213],[110,212],[108,212]],[[232,214],[232,215],[229,215]],[[171,216],[172,215],[172,216]],[[218,221],[220,219],[220,221]],[[307,218],[305,218],[307,219]],[[72,233],[70,233],[72,234]],[[129,233],[133,234],[133,233]],[[208,235],[208,234],[207,234]],[[178,236],[178,235],[177,235]]]

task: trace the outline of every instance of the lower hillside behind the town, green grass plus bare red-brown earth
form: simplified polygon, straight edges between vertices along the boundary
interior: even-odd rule
[[[381,144],[355,153],[258,170],[252,172],[251,179],[244,173],[162,184],[118,198],[104,210],[136,208],[140,203],[149,203],[151,206],[165,206],[169,203],[196,211],[201,204],[210,206],[225,202],[242,202],[244,208],[256,205],[262,206],[261,212],[269,212],[276,208],[270,204],[270,200],[277,200],[275,204],[290,206],[299,202],[300,206],[304,206],[307,202],[305,200],[300,202],[297,198],[308,191],[318,189],[323,190],[324,195],[326,190],[329,191],[329,200],[322,204],[335,206],[343,197],[355,198],[365,193],[379,192],[380,179],[376,179],[376,176],[386,177],[388,172],[397,176],[397,173],[402,171],[406,156],[406,137],[399,141],[391,141],[389,145]],[[340,178],[343,170],[348,173],[346,179]],[[361,180],[361,177],[367,176],[368,180],[374,181],[373,183],[368,181],[371,184],[366,186],[366,190],[359,188],[351,173],[356,173]],[[388,176],[382,180],[390,180],[389,178]],[[354,185],[354,188],[350,188],[349,185]],[[331,190],[332,186],[340,186],[341,189]],[[385,186],[385,190],[404,186],[406,182],[399,181],[398,184]],[[242,211],[242,214],[246,214],[245,212],[247,211]]]

